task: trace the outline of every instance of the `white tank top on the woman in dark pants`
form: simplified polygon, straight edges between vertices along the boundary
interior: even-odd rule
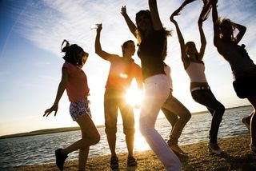
[[[190,82],[207,82],[205,74],[205,65],[198,62],[190,62],[187,67],[186,73],[190,77]]]

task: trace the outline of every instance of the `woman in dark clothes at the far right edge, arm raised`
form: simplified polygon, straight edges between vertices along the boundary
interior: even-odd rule
[[[218,18],[217,2],[217,0],[212,0],[214,46],[230,64],[234,78],[234,91],[237,96],[247,98],[254,109],[246,118],[246,126],[250,128],[250,149],[256,152],[256,65],[247,54],[245,45],[238,45],[246,33],[246,27],[226,18]],[[234,30],[238,30],[239,33],[234,35]]]

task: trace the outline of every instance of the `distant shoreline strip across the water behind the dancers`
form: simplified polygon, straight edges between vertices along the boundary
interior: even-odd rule
[[[237,108],[243,108],[243,107],[249,107],[249,106],[251,105],[242,105],[242,106],[231,107],[226,109],[237,109]],[[192,113],[192,115],[198,115],[198,114],[207,113],[207,112],[208,112],[207,110],[204,110],[204,111]],[[97,128],[102,128],[102,127],[105,127],[105,125],[97,125]],[[62,133],[62,132],[69,132],[69,131],[76,131],[76,130],[80,130],[80,128],[78,126],[75,126],[75,127],[64,127],[64,128],[54,128],[54,129],[40,129],[40,130],[35,130],[27,133],[14,133],[9,135],[3,135],[3,136],[0,136],[0,139],[6,139],[11,137],[26,137],[26,136],[48,134],[48,133]]]

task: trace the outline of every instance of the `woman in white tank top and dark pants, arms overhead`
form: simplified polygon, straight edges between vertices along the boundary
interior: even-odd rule
[[[181,31],[179,30],[178,23],[174,20],[174,16],[176,15],[178,15],[177,10],[170,16],[170,22],[174,23],[177,30],[183,66],[190,77],[191,95],[194,101],[201,105],[205,105],[213,117],[210,126],[208,148],[212,153],[224,154],[226,152],[218,146],[217,140],[218,128],[222,121],[222,115],[225,111],[225,107],[214,97],[214,94],[211,92],[210,86],[206,80],[205,65],[204,62],[202,62],[206,49],[206,38],[202,30],[202,19],[199,18],[198,20],[198,29],[201,38],[201,48],[198,52],[194,42],[187,42],[184,44],[184,39]]]

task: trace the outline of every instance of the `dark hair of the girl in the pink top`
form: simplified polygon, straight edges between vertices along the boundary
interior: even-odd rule
[[[63,57],[65,62],[70,62],[74,66],[80,65],[81,60],[78,59],[78,53],[83,51],[82,47],[78,46],[77,44],[70,45],[70,43],[66,40],[62,42],[62,45],[64,42],[66,42],[66,46],[62,48],[62,52],[65,53]]]

